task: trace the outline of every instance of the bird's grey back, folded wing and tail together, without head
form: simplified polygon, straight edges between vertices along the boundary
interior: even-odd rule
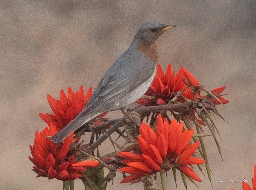
[[[155,69],[156,64],[150,59],[143,56],[136,57],[129,53],[127,56],[124,53],[103,76],[85,109],[71,123],[55,134],[51,141],[55,143],[62,141],[82,124],[110,110],[113,103],[117,103],[122,97],[149,80]]]

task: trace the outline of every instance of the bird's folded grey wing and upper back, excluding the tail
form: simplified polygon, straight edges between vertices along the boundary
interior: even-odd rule
[[[152,77],[156,63],[143,54],[138,57],[128,55],[126,56],[125,52],[109,68],[81,115],[111,105]],[[125,64],[123,64],[124,62]]]

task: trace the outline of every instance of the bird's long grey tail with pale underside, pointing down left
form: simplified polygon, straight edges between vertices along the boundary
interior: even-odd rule
[[[77,115],[73,121],[67,124],[63,129],[61,129],[58,133],[56,133],[52,138],[51,141],[55,143],[60,143],[63,141],[68,135],[70,135],[73,131],[81,127],[86,122],[90,121],[91,119],[95,118],[97,115],[101,113],[90,113],[85,115]]]

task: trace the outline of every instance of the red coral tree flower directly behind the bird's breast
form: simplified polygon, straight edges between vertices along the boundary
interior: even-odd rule
[[[158,65],[156,76],[144,94],[145,96],[149,96],[149,98],[142,97],[137,103],[146,106],[165,105],[175,97],[178,91],[183,91],[182,95],[191,100],[193,93],[190,87],[196,87],[198,85],[200,85],[199,81],[183,67],[180,67],[180,70],[175,76],[171,64],[167,66],[165,74],[162,67]],[[184,100],[179,98],[178,101],[183,102]]]

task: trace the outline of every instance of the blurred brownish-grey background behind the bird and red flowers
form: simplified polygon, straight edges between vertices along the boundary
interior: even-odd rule
[[[107,69],[128,48],[138,28],[149,21],[175,24],[158,39],[159,63],[165,70],[184,66],[212,90],[226,86],[230,100],[218,110],[216,124],[223,162],[212,137],[206,148],[214,189],[252,186],[256,164],[256,2],[240,0],[2,0],[0,1],[0,189],[62,189],[56,179],[35,178],[29,161],[34,133],[46,124],[39,112],[50,112],[46,95],[59,98],[61,89],[95,89]],[[121,111],[107,114],[120,117]],[[206,130],[207,133],[207,130]],[[106,145],[105,145],[106,146]],[[109,144],[107,145],[110,146]],[[101,146],[102,153],[106,153]],[[196,170],[211,189],[209,180]],[[218,182],[219,178],[239,182]],[[107,189],[143,189],[142,183]],[[167,189],[175,189],[172,172]],[[75,189],[83,189],[76,180]],[[180,176],[178,189],[184,190]],[[188,180],[188,189],[198,189]]]

